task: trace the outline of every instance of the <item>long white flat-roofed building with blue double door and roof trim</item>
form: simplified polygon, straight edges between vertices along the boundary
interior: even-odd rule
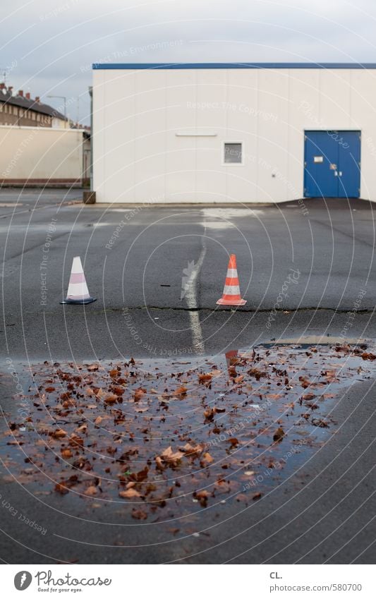
[[[95,64],[97,202],[376,200],[375,69]]]

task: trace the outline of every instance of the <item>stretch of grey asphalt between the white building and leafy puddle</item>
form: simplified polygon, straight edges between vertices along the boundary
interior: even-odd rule
[[[302,333],[375,336],[370,202],[309,200],[304,214],[298,202],[86,206],[75,203],[75,190],[68,198],[64,190],[45,191],[40,204],[39,192],[28,190],[13,212],[8,204],[16,198],[12,190],[0,202],[1,335],[14,358],[216,353]],[[236,311],[216,305],[230,253],[247,300]],[[97,298],[83,308],[59,304],[75,255]],[[187,277],[189,293],[181,298]],[[356,318],[347,323],[354,306]]]

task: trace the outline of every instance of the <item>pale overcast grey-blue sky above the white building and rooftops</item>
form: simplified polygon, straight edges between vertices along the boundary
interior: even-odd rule
[[[83,123],[93,62],[376,62],[376,0],[1,0],[0,22],[6,83]]]

